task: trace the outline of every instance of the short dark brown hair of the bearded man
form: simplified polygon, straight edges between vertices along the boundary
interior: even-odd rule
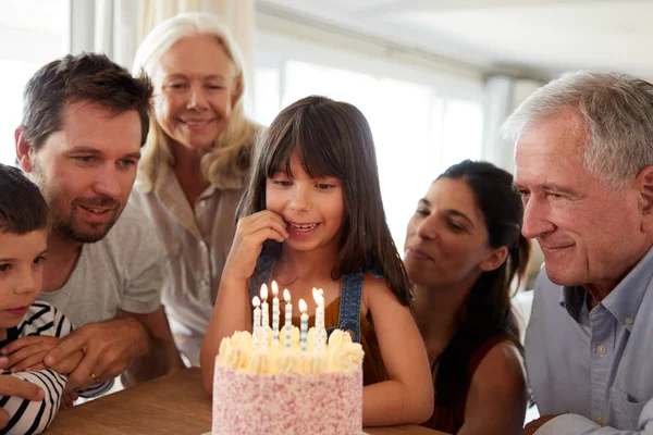
[[[140,144],[149,129],[152,86],[147,77],[135,78],[124,67],[100,53],[67,54],[41,66],[23,94],[25,138],[38,149],[62,128],[65,105],[89,101],[115,114],[135,110],[140,116]]]

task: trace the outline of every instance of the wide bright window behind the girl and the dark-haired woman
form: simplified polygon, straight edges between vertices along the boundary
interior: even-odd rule
[[[365,114],[377,147],[386,220],[403,252],[406,225],[429,183],[451,164],[481,158],[481,80],[452,92],[445,80],[429,83],[409,69],[374,60],[366,65],[360,55],[349,63],[342,50],[272,35],[258,41],[257,121],[268,125],[282,108],[309,95],[349,102]]]

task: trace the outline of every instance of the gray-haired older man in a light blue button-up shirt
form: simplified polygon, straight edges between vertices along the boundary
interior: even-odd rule
[[[544,252],[523,433],[653,434],[653,85],[565,75],[506,121],[522,233]]]

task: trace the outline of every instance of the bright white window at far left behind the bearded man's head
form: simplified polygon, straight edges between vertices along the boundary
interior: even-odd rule
[[[15,161],[14,129],[21,123],[23,89],[45,63],[69,51],[69,0],[0,0],[0,163]]]

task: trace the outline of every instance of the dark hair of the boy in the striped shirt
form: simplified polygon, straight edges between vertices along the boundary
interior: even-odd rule
[[[0,163],[0,233],[26,234],[50,225],[48,203],[21,171]]]

